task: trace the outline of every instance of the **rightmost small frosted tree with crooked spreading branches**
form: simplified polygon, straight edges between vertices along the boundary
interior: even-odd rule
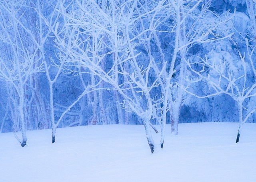
[[[226,45],[226,49],[224,49],[225,51],[222,51],[221,49],[225,46],[225,43],[222,42],[219,47],[210,51],[205,59],[201,59],[200,62],[196,63],[196,65],[201,65],[202,69],[200,71],[192,66],[195,63],[188,63],[192,72],[206,80],[209,86],[214,90],[212,94],[201,96],[199,98],[224,93],[229,95],[236,102],[240,123],[236,142],[239,141],[243,124],[255,111],[255,107],[250,108],[250,111],[244,111],[249,109],[247,107],[248,99],[256,95],[256,84],[248,78],[249,72],[252,72],[254,77],[256,73],[252,61],[255,45],[250,45],[247,38],[245,39],[245,42],[247,51],[243,54],[238,47],[236,50],[232,50],[231,45]],[[218,51],[220,52],[218,53]],[[231,52],[233,52],[234,55],[232,55]],[[247,56],[245,56],[246,54]],[[246,59],[246,57],[248,58]],[[193,95],[198,97],[195,94]]]

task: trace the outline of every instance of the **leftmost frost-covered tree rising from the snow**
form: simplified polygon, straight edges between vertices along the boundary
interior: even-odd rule
[[[36,41],[28,22],[22,22],[26,17],[24,14],[27,9],[23,2],[1,2],[0,13],[0,31],[2,33],[1,43],[5,54],[0,56],[0,75],[8,83],[10,98],[12,99],[13,109],[18,108],[18,112],[14,111],[15,122],[14,127],[18,127],[20,121],[22,139],[16,138],[21,146],[26,145],[26,97],[28,92],[28,83],[32,73],[40,72],[42,66],[38,58],[38,42]],[[31,83],[32,84],[32,83]],[[18,113],[18,115],[16,114]],[[18,118],[17,118],[18,117]],[[16,126],[15,126],[16,125]]]

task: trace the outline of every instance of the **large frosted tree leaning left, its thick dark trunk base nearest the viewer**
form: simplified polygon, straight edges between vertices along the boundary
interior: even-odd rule
[[[111,85],[116,97],[118,91],[124,98],[124,103],[117,100],[118,105],[123,104],[124,108],[132,109],[142,119],[150,149],[154,152],[154,141],[150,133],[153,112],[150,90],[155,87],[156,81],[150,82],[149,79],[152,61],[144,61],[142,64],[140,53],[136,50],[136,46],[140,44],[136,34],[140,36],[139,31],[142,31],[139,27],[140,19],[144,18],[147,12],[143,10],[144,4],[139,1],[127,1],[123,2],[124,4],[116,4],[114,1],[108,3],[74,2],[73,12],[66,10],[71,7],[62,8],[69,25],[68,32],[73,32],[66,36],[66,42],[72,39],[71,46],[65,44],[66,52],[80,61],[92,75],[97,76],[99,83],[105,81]],[[150,5],[152,13],[160,14],[163,2],[152,2]],[[138,14],[138,11],[143,14]],[[150,27],[148,29],[150,30]],[[102,69],[101,65],[106,57],[111,60],[111,68],[108,70]],[[122,120],[122,111],[118,112],[119,120]]]

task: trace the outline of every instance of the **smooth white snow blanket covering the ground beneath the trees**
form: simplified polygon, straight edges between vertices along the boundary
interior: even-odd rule
[[[28,131],[21,147],[14,133],[0,134],[0,182],[255,182],[256,124],[190,123],[160,134],[151,154],[144,127],[97,125]],[[156,126],[157,129],[160,128]],[[18,133],[18,136],[21,134]]]

